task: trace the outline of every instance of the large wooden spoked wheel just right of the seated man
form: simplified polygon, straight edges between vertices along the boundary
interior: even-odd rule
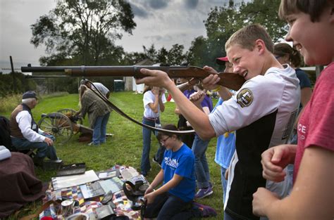
[[[52,134],[58,143],[66,143],[73,135],[73,124],[61,113],[54,112],[44,115],[38,122],[38,127]]]

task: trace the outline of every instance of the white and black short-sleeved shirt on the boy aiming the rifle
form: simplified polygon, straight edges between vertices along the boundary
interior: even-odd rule
[[[283,198],[288,181],[266,181],[262,177],[261,153],[286,143],[300,102],[295,70],[269,68],[265,75],[249,79],[228,101],[209,115],[216,135],[236,130],[236,151],[230,163],[225,212],[251,218],[252,193],[266,187]],[[238,210],[241,210],[240,213]]]

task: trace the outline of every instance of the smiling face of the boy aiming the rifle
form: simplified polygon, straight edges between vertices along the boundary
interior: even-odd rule
[[[244,77],[246,80],[261,74],[262,65],[256,49],[249,51],[249,49],[235,44],[228,48],[227,54],[228,60],[233,64],[233,72],[235,74]]]

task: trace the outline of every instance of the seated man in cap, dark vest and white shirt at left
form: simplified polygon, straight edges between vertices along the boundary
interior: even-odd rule
[[[34,91],[23,93],[22,103],[11,113],[9,125],[13,146],[17,150],[37,149],[37,155],[33,160],[36,165],[42,165],[44,157],[50,160],[58,160],[58,157],[52,140],[54,136],[38,129],[32,117],[31,110],[36,105],[37,96]]]

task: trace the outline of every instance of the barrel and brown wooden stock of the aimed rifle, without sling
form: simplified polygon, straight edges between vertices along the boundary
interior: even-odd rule
[[[166,72],[170,78],[195,78],[202,80],[205,77],[213,74],[206,70],[190,66],[47,66],[47,67],[21,67],[22,72],[63,72],[69,77],[135,77],[144,78],[147,75],[143,75],[140,69],[145,68],[149,70],[162,70]],[[218,84],[225,86],[235,91],[239,90],[245,79],[240,75],[230,72],[218,73],[220,81]],[[41,77],[40,75],[36,77]]]

